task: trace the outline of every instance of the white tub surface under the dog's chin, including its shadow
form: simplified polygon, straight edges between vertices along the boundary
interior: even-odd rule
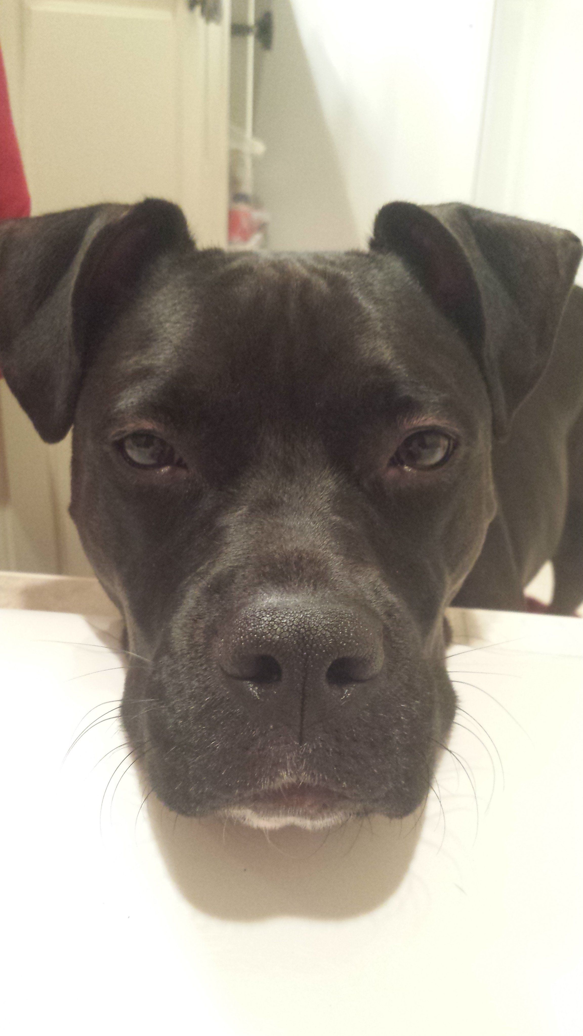
[[[452,618],[441,804],[268,842],[140,809],[113,618],[0,611],[4,1031],[581,1032],[583,623]]]

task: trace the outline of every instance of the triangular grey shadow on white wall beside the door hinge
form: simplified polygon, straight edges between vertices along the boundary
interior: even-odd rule
[[[263,7],[257,5],[258,15]],[[272,214],[270,248],[360,248],[364,241],[289,0],[277,0],[274,17],[274,49],[258,52],[255,102],[255,134],[268,144],[256,166],[256,190]]]

